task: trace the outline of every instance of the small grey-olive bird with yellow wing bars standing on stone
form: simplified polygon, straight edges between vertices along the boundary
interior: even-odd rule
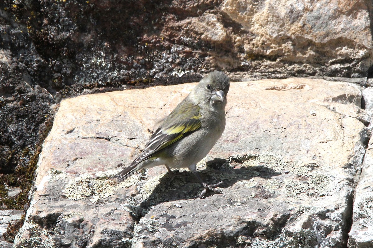
[[[209,190],[221,194],[222,191],[216,187],[223,182],[204,183],[196,172],[196,164],[223,134],[228,90],[227,75],[221,71],[207,74],[163,120],[144,151],[112,178],[119,183],[140,169],[157,165],[166,165],[170,174],[173,174],[171,168],[188,168],[204,187],[196,198],[202,199]]]

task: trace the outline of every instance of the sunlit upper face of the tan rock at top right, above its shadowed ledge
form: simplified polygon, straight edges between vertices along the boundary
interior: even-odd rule
[[[366,3],[354,3],[337,0],[227,0],[222,4],[222,10],[245,29],[258,35],[276,37],[287,33],[327,42],[333,36],[346,35],[351,31],[350,39],[359,40],[370,47],[370,20],[365,15],[368,11]]]

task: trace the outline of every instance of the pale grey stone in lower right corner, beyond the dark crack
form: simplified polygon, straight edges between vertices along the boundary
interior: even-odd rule
[[[371,138],[361,168],[360,179],[355,189],[354,214],[348,248],[373,247],[372,145],[373,139]]]

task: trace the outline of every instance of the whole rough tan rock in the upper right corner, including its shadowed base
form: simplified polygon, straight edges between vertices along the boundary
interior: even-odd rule
[[[355,60],[354,51],[359,51],[361,54],[357,57],[361,60],[353,66],[354,70],[341,72],[356,77],[361,75],[358,71],[366,71],[373,62],[371,7],[372,3],[367,4],[364,0],[354,4],[341,4],[334,0],[313,3],[303,0],[281,3],[273,0],[227,0],[222,3],[221,9],[251,34],[246,39],[243,35],[232,35],[233,44],[244,49],[240,54],[241,66],[253,66],[260,57],[264,60],[260,59],[256,73],[267,70],[287,74],[280,66],[292,61],[287,70],[294,73],[330,75],[334,74],[332,71],[341,69],[342,64],[350,64],[347,57]],[[234,41],[236,37],[238,39]],[[319,62],[330,67],[319,67]]]

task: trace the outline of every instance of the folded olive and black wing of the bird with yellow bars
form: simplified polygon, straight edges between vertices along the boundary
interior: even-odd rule
[[[162,151],[199,128],[201,128],[200,107],[184,99],[153,133],[145,145],[144,151],[131,165],[138,164],[152,157],[157,152]]]

